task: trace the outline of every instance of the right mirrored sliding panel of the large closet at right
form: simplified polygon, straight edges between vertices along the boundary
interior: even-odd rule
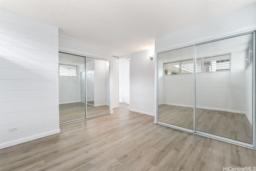
[[[252,44],[251,33],[196,46],[196,132],[252,144]]]

